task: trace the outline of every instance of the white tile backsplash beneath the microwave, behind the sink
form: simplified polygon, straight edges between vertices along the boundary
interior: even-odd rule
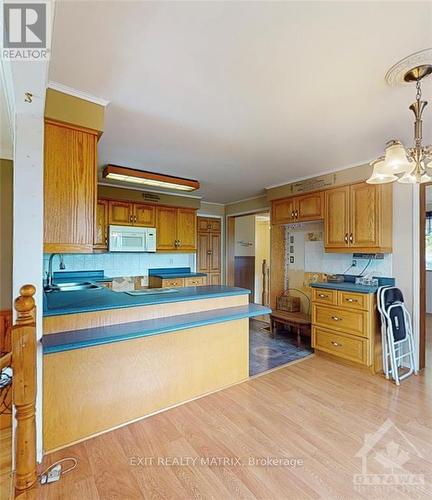
[[[44,276],[48,271],[49,254],[44,254]],[[190,267],[195,269],[195,254],[169,253],[100,253],[63,254],[65,271],[91,271],[103,269],[106,276],[147,276],[153,267]],[[54,257],[53,271],[59,271],[59,258]]]

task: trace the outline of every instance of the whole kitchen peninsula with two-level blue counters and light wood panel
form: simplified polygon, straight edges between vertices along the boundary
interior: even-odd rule
[[[43,446],[54,451],[249,378],[249,318],[227,286],[45,295]]]

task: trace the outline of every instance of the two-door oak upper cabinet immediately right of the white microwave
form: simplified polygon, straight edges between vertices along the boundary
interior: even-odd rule
[[[196,250],[196,211],[190,208],[156,207],[158,251]]]

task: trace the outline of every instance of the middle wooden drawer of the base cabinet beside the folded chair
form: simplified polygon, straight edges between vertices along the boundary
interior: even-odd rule
[[[340,307],[314,304],[312,308],[313,325],[323,326],[339,332],[368,337],[368,313],[352,311]]]

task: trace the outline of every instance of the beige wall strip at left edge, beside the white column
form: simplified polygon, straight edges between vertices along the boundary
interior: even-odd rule
[[[12,309],[12,165],[0,159],[0,310]]]

